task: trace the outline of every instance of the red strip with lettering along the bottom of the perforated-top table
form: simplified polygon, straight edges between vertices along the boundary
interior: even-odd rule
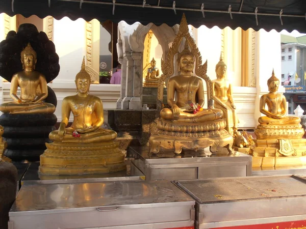
[[[216,227],[213,229],[306,229],[306,220],[244,225],[244,226],[226,226],[226,227]]]

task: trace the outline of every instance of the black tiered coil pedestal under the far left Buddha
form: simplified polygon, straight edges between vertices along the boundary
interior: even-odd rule
[[[0,117],[4,127],[4,140],[8,146],[4,155],[13,161],[38,161],[46,149],[45,142],[52,142],[49,133],[55,130],[57,118],[50,114],[10,114]]]

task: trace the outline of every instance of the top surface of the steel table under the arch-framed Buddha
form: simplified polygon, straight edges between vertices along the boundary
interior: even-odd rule
[[[184,152],[184,151],[183,151]],[[220,160],[228,161],[251,161],[252,156],[240,153],[239,156],[228,156],[225,148],[218,148],[218,153],[185,151],[185,153],[174,154],[174,152],[161,151],[158,154],[149,154],[149,147],[130,147],[129,155],[134,155],[137,159],[145,160],[146,163],[184,163],[184,162],[217,162]]]

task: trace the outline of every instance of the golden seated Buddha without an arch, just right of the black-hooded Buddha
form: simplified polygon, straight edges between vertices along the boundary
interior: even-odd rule
[[[100,128],[104,122],[101,100],[89,95],[90,75],[85,69],[83,59],[81,71],[75,76],[77,95],[65,97],[62,102],[62,122],[58,130],[52,131],[49,138],[55,142],[92,144],[112,141],[117,133]],[[70,113],[73,123],[66,128]]]

